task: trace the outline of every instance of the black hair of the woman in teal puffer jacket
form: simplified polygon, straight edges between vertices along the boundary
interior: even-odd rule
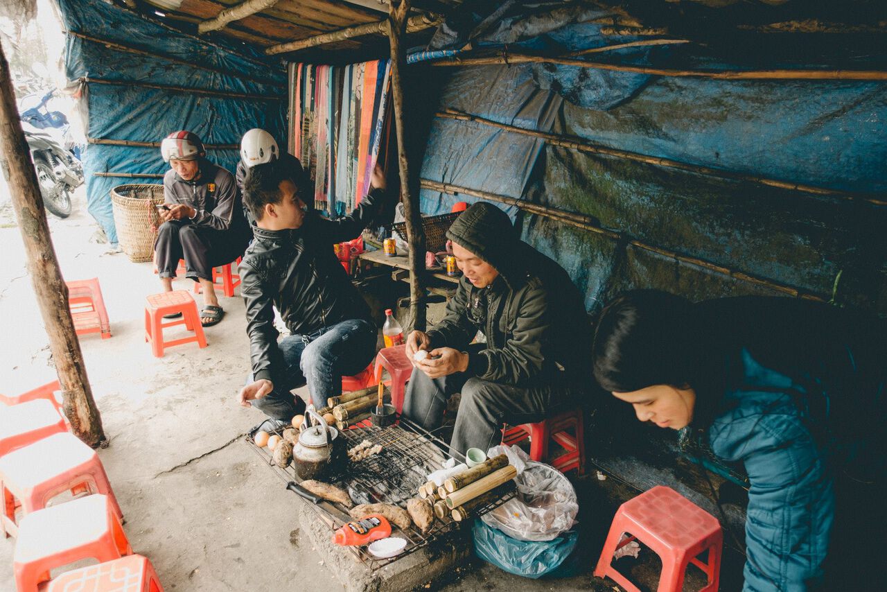
[[[632,290],[602,312],[594,331],[594,377],[605,391],[691,383],[695,331],[691,304],[659,290]]]

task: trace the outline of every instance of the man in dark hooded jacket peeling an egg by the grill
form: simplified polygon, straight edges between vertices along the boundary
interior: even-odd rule
[[[450,446],[486,452],[503,422],[538,422],[577,402],[590,380],[589,325],[567,272],[522,242],[501,209],[475,203],[447,237],[464,275],[444,319],[407,337],[404,414],[434,430],[461,392]],[[478,331],[486,343],[471,343]]]

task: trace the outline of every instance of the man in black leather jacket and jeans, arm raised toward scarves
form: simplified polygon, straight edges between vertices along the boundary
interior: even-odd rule
[[[375,355],[378,329],[333,245],[356,238],[386,201],[377,168],[360,205],[329,220],[306,212],[302,183],[291,175],[280,162],[249,170],[244,202],[255,217],[255,240],[239,266],[252,358],[240,404],[283,422],[304,409],[292,389],[307,383],[315,407],[325,407],[341,392],[342,375],[357,374]],[[292,334],[279,343],[272,306]]]

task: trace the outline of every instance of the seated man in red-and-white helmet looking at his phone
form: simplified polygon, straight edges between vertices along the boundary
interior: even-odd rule
[[[230,172],[206,159],[203,143],[191,131],[169,134],[161,142],[161,154],[170,169],[163,177],[165,203],[158,210],[162,224],[154,242],[157,272],[169,292],[178,261],[184,259],[185,277],[203,288],[200,320],[210,327],[224,315],[213,267],[232,263],[249,241],[239,191]]]

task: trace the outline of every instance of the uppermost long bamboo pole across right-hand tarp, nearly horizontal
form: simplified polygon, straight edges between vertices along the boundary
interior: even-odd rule
[[[534,56],[503,51],[501,55],[483,58],[451,56],[431,62],[433,66],[493,66],[499,64],[558,64],[561,66],[593,67],[613,72],[632,72],[653,76],[714,78],[717,80],[887,80],[883,70],[679,70],[675,68],[608,64],[575,58]]]

